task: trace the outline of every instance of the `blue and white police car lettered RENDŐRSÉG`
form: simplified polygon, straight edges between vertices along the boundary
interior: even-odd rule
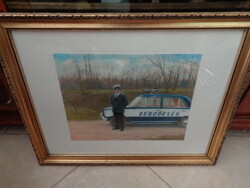
[[[190,106],[190,98],[183,95],[142,94],[127,105],[124,116],[127,123],[177,123],[179,126],[186,127]],[[112,107],[104,108],[101,117],[112,124]]]

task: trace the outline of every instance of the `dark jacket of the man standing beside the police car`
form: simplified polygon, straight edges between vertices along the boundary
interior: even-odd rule
[[[124,108],[128,105],[127,97],[121,93],[117,97],[112,95],[111,105],[113,113],[124,113]]]

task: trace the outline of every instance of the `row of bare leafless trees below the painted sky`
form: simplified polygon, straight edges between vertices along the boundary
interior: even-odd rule
[[[165,92],[178,88],[195,86],[198,62],[186,56],[175,55],[171,59],[167,55],[149,55],[146,59],[150,66],[142,69],[126,69],[116,71],[115,67],[108,65],[92,69],[91,55],[86,54],[82,62],[73,59],[69,67],[63,67],[59,74],[61,87],[79,87],[82,94],[87,94],[86,89],[110,89],[114,84],[121,84],[127,89],[164,88]],[[152,66],[153,65],[153,66]]]

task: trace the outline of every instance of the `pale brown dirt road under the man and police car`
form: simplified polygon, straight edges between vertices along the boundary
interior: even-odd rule
[[[72,140],[183,140],[186,130],[170,124],[128,124],[120,131],[104,120],[70,121],[69,129]]]

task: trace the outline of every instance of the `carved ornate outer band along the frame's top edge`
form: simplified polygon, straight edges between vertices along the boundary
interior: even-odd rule
[[[249,19],[249,12],[232,13],[0,13],[0,19]]]

